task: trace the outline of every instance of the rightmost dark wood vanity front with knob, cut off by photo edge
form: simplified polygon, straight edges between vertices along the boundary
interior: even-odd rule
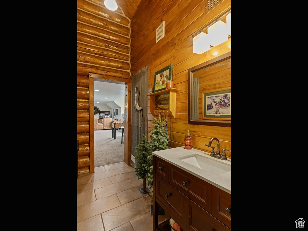
[[[212,185],[212,195],[212,215],[231,229],[231,194]]]

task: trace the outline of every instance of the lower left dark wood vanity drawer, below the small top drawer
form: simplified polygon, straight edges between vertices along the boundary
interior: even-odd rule
[[[181,227],[185,227],[185,205],[186,207],[189,205],[188,197],[185,197],[182,193],[176,190],[176,188],[172,187],[160,176],[157,176],[157,174],[155,178],[156,198],[170,211],[170,213],[172,213],[172,218]],[[188,217],[186,219],[188,219]]]

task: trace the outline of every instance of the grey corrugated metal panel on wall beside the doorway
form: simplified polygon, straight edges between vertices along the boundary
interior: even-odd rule
[[[131,116],[131,153],[135,155],[138,142],[141,140],[142,135],[148,136],[148,65],[137,71],[132,76],[132,116]],[[138,111],[135,109],[135,88],[139,87],[140,96],[138,104],[142,109]],[[130,163],[134,168],[138,166],[137,161],[135,163],[131,160]]]

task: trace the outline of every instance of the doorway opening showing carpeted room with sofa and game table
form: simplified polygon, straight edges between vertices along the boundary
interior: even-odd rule
[[[93,82],[93,105],[98,108],[94,115],[94,167],[124,162],[125,85],[97,78]],[[113,122],[117,123],[115,129]]]

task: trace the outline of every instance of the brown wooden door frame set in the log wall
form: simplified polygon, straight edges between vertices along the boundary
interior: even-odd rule
[[[104,79],[104,82],[125,84],[124,102],[124,162],[129,165],[131,161],[131,79],[89,73],[89,116],[90,116],[90,173],[94,172],[94,79]],[[127,132],[126,132],[127,131]]]

